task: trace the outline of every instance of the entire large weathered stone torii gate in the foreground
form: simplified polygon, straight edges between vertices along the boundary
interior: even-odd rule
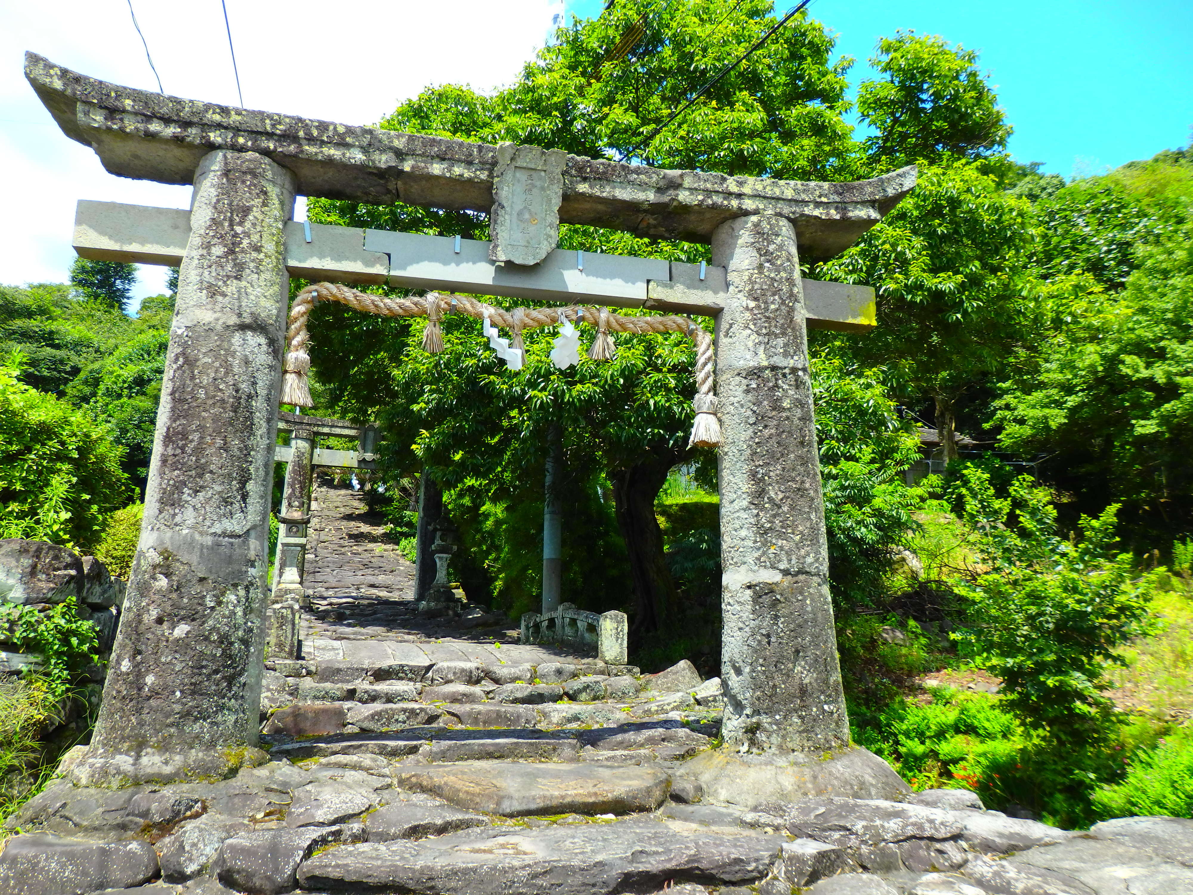
[[[25,72],[63,132],[107,171],[194,187],[188,212],[79,208],[84,257],[181,271],[141,542],[76,782],[223,777],[260,754],[265,544],[291,274],[713,316],[723,754],[781,764],[832,753],[858,773],[805,327],[864,331],[873,291],[802,279],[799,260],[851,246],[913,189],[914,168],[846,184],[663,171],[178,99],[33,54]],[[493,239],[295,223],[296,193],[484,211]],[[712,264],[563,252],[561,222],[711,242]]]

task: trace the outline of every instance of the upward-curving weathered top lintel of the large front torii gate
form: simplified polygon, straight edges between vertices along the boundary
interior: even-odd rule
[[[87,78],[33,53],[25,76],[62,131],[113,174],[190,184],[212,149],[289,168],[297,192],[373,204],[488,211],[497,148],[168,97]],[[560,221],[709,242],[728,220],[774,214],[804,258],[843,252],[915,186],[914,166],[871,180],[802,183],[666,171],[569,155]]]

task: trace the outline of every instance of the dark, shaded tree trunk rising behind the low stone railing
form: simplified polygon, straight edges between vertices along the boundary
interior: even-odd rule
[[[667,568],[663,532],[655,518],[655,499],[667,473],[686,451],[648,450],[642,462],[613,471],[613,505],[625,539],[633,584],[635,632],[657,631],[674,619],[679,592]]]

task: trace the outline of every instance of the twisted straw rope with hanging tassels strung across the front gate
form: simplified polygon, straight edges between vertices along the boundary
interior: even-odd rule
[[[692,405],[696,409],[696,422],[692,426],[690,446],[716,448],[721,444],[721,421],[717,419],[717,399],[712,394],[712,337],[709,335],[691,317],[674,314],[659,316],[626,317],[614,314],[607,308],[591,308],[571,304],[565,308],[515,308],[508,311],[463,295],[443,295],[428,292],[419,298],[387,298],[379,295],[358,292],[351,286],[338,283],[315,283],[295,296],[290,307],[289,326],[286,328],[286,359],[282,376],[282,403],[297,407],[311,407],[310,388],[307,376],[310,371],[310,356],[307,344],[310,335],[307,332],[307,317],[310,316],[315,302],[341,302],[365,314],[378,314],[385,317],[427,317],[427,327],[422,332],[422,350],[432,354],[443,351],[443,331],[440,320],[444,313],[462,311],[477,320],[488,317],[493,326],[513,331],[512,348],[521,348],[524,329],[536,329],[542,326],[557,326],[561,315],[575,323],[587,323],[596,327],[596,338],[588,350],[588,357],[594,360],[612,360],[616,346],[610,331],[617,333],[684,333],[696,344],[696,397]]]

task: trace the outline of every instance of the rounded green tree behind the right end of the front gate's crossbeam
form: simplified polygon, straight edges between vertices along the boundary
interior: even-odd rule
[[[979,163],[920,174],[915,191],[858,243],[814,276],[873,285],[878,326],[863,338],[815,345],[884,366],[908,400],[932,402],[946,462],[957,458],[957,416],[968,394],[993,385],[1039,326],[1028,266],[1033,220],[1025,199]]]

